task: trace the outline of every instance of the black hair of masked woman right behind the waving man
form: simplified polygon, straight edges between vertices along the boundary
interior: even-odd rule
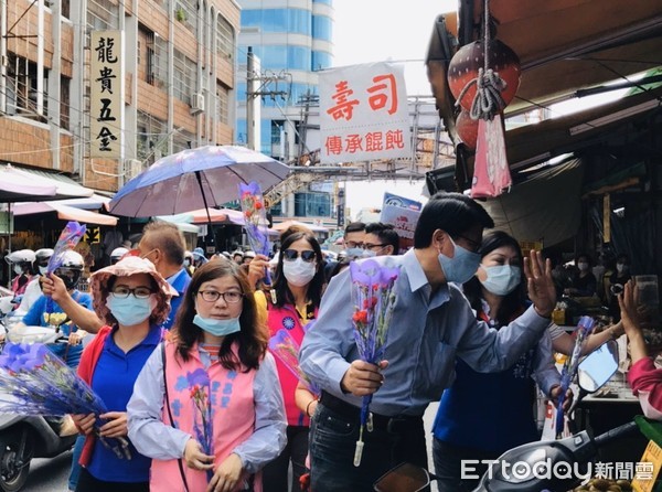
[[[483,236],[480,248],[478,249],[478,254],[480,255],[480,257],[482,259],[485,256],[488,256],[490,253],[492,253],[494,249],[498,249],[498,248],[501,248],[504,246],[513,248],[517,253],[517,256],[520,257],[520,261],[523,260],[522,248],[520,247],[520,244],[517,243],[517,240],[514,237],[504,233],[503,231],[491,231],[491,232],[487,233]],[[519,312],[522,310],[522,307],[526,302],[526,290],[525,290],[526,284],[523,280],[524,280],[524,275],[522,274],[522,279],[520,281],[520,285],[512,292],[506,293],[503,297],[503,300],[501,301],[501,304],[499,307],[499,312],[496,312],[496,315],[492,315],[493,319],[499,321],[500,325],[505,325],[505,324],[510,323],[512,321],[512,319],[516,314],[519,314]],[[481,298],[482,298],[481,287],[482,286],[480,284],[480,280],[476,276],[471,277],[471,279],[468,280],[467,282],[465,282],[462,286],[465,296],[467,297],[467,299],[469,299],[469,303],[471,304],[471,308],[473,308],[477,312],[480,312],[483,310],[482,303],[481,303]],[[492,313],[492,314],[494,314],[494,313]]]

